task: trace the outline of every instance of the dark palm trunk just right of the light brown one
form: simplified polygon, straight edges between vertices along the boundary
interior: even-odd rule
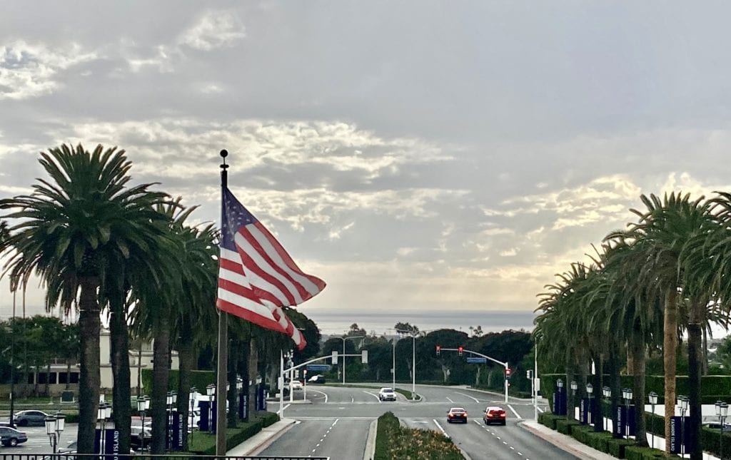
[[[702,321],[704,305],[695,300],[690,305],[688,321],[688,383],[690,408],[690,438],[692,450],[690,458],[701,460],[703,457],[700,442],[700,375],[702,372]]]

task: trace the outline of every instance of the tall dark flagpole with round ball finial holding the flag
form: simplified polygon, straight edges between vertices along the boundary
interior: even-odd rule
[[[226,164],[227,150],[221,150],[221,230],[224,229],[224,193],[228,187],[228,165]],[[216,378],[216,456],[226,455],[226,382],[228,370],[228,328],[227,314],[219,310],[219,359],[218,375]],[[233,409],[233,408],[232,408]]]

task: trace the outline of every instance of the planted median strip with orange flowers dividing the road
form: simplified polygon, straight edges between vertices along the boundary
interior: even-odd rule
[[[459,448],[442,433],[401,426],[393,413],[378,418],[374,460],[464,460]]]

